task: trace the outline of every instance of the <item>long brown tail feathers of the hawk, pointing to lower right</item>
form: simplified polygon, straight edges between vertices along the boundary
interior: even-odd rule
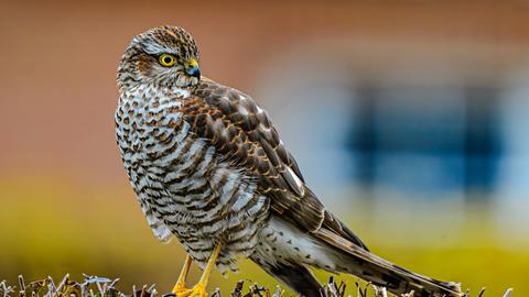
[[[326,229],[320,229],[314,235],[338,249],[342,254],[347,255],[342,265],[346,265],[346,267],[339,272],[352,273],[375,285],[384,286],[392,294],[400,296],[413,290],[414,296],[463,296],[461,287],[456,283],[441,282],[412,273],[369,253]]]

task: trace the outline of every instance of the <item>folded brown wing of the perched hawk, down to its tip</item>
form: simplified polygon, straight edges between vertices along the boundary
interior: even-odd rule
[[[204,79],[182,102],[193,132],[253,176],[258,190],[271,198],[272,211],[306,231],[326,229],[366,249],[305,186],[268,114],[250,97]]]

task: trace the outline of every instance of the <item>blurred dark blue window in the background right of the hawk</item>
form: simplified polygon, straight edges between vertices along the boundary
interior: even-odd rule
[[[450,88],[360,87],[346,141],[357,160],[353,180],[367,188],[456,190],[487,199],[501,154],[498,91],[462,91],[454,97]],[[435,108],[429,108],[432,102]]]

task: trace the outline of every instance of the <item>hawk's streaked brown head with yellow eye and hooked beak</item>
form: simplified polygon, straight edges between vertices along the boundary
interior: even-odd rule
[[[201,80],[198,48],[179,26],[158,26],[136,35],[121,57],[118,86],[191,89]]]

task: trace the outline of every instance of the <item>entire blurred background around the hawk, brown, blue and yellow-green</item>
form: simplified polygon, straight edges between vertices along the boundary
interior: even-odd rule
[[[487,296],[529,292],[525,1],[1,1],[0,279],[172,287],[183,249],[151,234],[114,132],[121,53],[162,24],[269,111],[377,254]],[[210,287],[276,285],[241,265]]]

